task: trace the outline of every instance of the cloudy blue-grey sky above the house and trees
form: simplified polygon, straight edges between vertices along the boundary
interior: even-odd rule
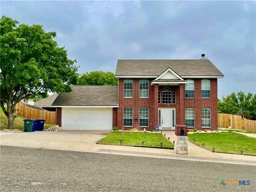
[[[199,59],[225,75],[218,97],[256,91],[256,3],[1,1],[1,15],[56,31],[79,73],[115,72],[118,59]]]

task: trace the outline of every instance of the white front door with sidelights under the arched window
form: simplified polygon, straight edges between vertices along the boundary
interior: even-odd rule
[[[175,108],[161,108],[159,113],[159,127],[162,130],[175,129]]]

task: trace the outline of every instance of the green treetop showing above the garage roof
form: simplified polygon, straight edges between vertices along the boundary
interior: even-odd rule
[[[92,71],[82,74],[77,79],[77,85],[117,85],[118,80],[112,72]]]

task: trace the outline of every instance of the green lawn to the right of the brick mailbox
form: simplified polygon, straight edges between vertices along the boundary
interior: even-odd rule
[[[256,139],[249,138],[233,131],[221,133],[193,133],[188,134],[188,140],[194,142],[198,146],[212,150],[215,152],[256,155]]]

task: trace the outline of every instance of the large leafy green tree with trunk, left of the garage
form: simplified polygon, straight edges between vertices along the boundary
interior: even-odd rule
[[[70,92],[69,85],[77,81],[77,67],[67,50],[53,40],[56,33],[46,32],[41,25],[19,25],[3,16],[0,33],[1,107],[12,129],[19,101],[45,97],[47,92]]]

